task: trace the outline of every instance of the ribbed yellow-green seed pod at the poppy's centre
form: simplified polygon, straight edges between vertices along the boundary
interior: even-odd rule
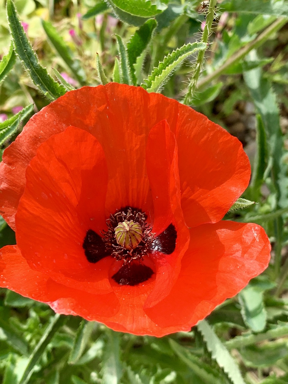
[[[115,228],[115,238],[121,247],[132,250],[137,247],[143,238],[141,226],[133,220],[119,223]]]

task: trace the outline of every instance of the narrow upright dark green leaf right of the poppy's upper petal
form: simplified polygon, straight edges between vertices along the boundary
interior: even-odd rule
[[[252,179],[250,190],[255,200],[260,196],[260,188],[264,181],[264,174],[268,164],[268,148],[266,141],[266,132],[261,115],[258,114],[256,126],[256,144],[257,152],[255,153]]]

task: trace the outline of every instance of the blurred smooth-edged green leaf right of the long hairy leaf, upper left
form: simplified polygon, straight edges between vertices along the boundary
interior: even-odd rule
[[[74,74],[75,78],[79,81],[81,85],[85,84],[86,76],[81,68],[79,60],[75,60],[73,58],[73,53],[65,43],[65,41],[61,38],[56,28],[45,20],[41,20],[43,28],[50,40],[51,44],[55,48],[56,52],[61,56],[61,58],[65,61],[66,65],[70,68],[71,72]]]

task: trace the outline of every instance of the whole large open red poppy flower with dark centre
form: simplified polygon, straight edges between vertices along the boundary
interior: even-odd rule
[[[175,100],[68,92],[3,154],[17,246],[0,252],[0,286],[117,331],[188,331],[268,264],[263,228],[219,221],[249,177],[238,139]]]

